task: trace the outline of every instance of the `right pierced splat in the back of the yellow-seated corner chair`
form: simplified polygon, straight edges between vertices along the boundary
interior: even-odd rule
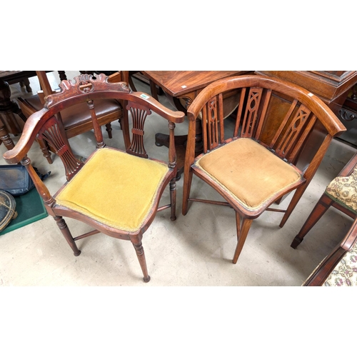
[[[131,129],[131,144],[127,153],[139,157],[148,158],[144,147],[144,124],[146,117],[151,114],[151,110],[146,106],[129,101],[126,109],[131,113],[133,128]]]

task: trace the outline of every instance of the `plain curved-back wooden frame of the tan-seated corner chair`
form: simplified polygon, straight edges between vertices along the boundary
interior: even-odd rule
[[[221,109],[223,108],[223,97],[232,91],[240,91],[241,95],[238,99],[233,136],[226,139],[223,110]],[[286,104],[286,109],[283,109],[282,112],[271,104],[271,99],[276,97]],[[346,130],[331,109],[328,109],[328,106],[323,104],[323,101],[317,96],[287,81],[260,75],[229,77],[214,82],[198,94],[191,106],[188,107],[187,112],[189,128],[184,166],[182,212],[183,215],[188,212],[189,201],[213,203],[233,208],[236,211],[237,226],[237,245],[233,263],[238,260],[253,219],[258,218],[263,211],[283,213],[280,223],[280,227],[283,227],[321,164],[331,140]],[[201,120],[203,154],[195,159],[196,120]],[[321,146],[302,169],[302,180],[298,186],[293,188],[295,193],[286,210],[270,208],[270,206],[286,195],[288,191],[277,193],[261,207],[249,210],[194,166],[198,159],[210,151],[219,149],[239,138],[253,139],[281,160],[288,164],[296,164],[306,146],[307,139],[315,130],[322,137]],[[191,197],[193,174],[213,187],[225,201],[210,201]]]

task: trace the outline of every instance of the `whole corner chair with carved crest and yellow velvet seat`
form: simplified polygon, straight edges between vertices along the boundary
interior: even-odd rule
[[[184,114],[166,109],[144,93],[130,91],[126,83],[110,83],[104,74],[96,77],[84,74],[75,77],[74,81],[62,81],[61,92],[46,97],[44,109],[29,117],[21,138],[14,149],[4,154],[4,159],[9,164],[21,161],[26,166],[46,210],[54,217],[75,256],[81,253],[76,241],[95,233],[131,241],[147,282],[150,276],[141,239],[157,211],[170,208],[171,220],[176,219],[174,127],[175,123],[183,121]],[[123,134],[129,138],[126,152],[104,144],[96,115],[96,103],[103,99],[116,99],[124,104]],[[60,111],[77,104],[85,104],[93,120],[96,138],[97,149],[85,162],[74,156],[64,125],[56,117]],[[133,122],[131,136],[128,111]],[[151,111],[169,121],[172,141],[168,161],[149,159],[146,154],[144,124]],[[26,156],[36,138],[54,148],[64,164],[67,181],[54,196]],[[170,203],[159,207],[166,186],[170,188]],[[88,223],[94,231],[73,238],[64,216]]]

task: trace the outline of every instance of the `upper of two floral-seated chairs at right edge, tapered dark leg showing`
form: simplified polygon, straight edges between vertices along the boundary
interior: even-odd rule
[[[331,181],[323,192],[316,206],[303,223],[300,232],[291,243],[296,248],[306,236],[308,231],[315,226],[324,213],[333,206],[346,213],[351,218],[357,215],[357,153],[352,157],[336,178]]]

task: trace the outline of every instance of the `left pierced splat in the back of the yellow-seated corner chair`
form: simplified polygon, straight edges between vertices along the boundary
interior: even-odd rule
[[[77,160],[71,151],[71,146],[69,146],[61,121],[52,116],[41,128],[38,137],[40,140],[46,141],[46,143],[54,149],[56,155],[60,157],[64,163],[67,181],[70,181],[79,169],[81,169],[83,163]]]

